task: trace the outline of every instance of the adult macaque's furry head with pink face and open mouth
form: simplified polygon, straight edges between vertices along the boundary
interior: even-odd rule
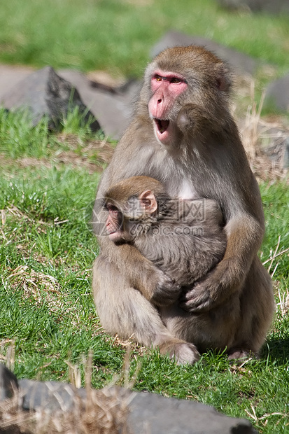
[[[231,74],[225,62],[202,47],[160,52],[146,69],[141,92],[157,140],[164,145],[178,143],[182,134],[202,122],[202,109],[210,114],[211,124],[223,123],[229,113],[230,86]],[[188,105],[197,106],[199,112],[188,111]]]

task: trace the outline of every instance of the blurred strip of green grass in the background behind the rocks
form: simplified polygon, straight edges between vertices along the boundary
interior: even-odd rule
[[[10,0],[0,15],[0,61],[140,76],[169,29],[211,38],[289,69],[288,16],[230,13],[215,0]]]

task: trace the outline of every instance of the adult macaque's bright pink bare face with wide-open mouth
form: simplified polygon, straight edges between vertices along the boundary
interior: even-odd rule
[[[169,144],[174,134],[174,125],[169,119],[176,98],[188,87],[185,78],[178,73],[157,70],[150,83],[153,96],[148,103],[153,119],[155,136],[162,144]]]

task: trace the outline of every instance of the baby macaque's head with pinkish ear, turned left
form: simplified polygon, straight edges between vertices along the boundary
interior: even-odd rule
[[[112,186],[104,200],[108,211],[108,237],[115,244],[121,244],[132,241],[140,231],[144,232],[144,225],[147,227],[154,221],[160,197],[162,200],[167,197],[162,183],[148,176],[132,176]]]

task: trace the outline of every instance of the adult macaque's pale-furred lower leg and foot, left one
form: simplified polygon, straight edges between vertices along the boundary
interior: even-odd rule
[[[118,268],[99,255],[94,261],[92,289],[104,329],[121,337],[134,334],[136,342],[158,346],[177,363],[195,363],[199,353],[193,344],[177,339],[162,323],[157,309],[125,281]]]

